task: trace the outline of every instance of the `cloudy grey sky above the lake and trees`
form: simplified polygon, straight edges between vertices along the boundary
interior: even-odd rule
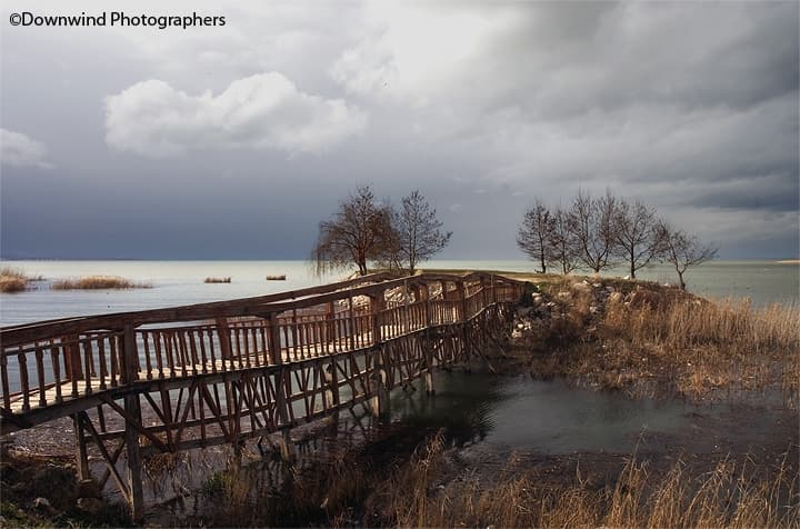
[[[522,259],[524,210],[579,189],[797,258],[799,6],[2,0],[0,254],[304,259],[369,184],[419,189],[447,259]]]

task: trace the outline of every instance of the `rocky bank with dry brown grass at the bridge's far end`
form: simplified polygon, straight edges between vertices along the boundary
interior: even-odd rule
[[[800,310],[708,301],[643,281],[541,278],[507,353],[538,377],[637,396],[800,392]]]

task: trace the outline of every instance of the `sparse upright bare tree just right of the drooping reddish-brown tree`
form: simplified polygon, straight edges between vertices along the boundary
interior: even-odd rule
[[[414,273],[417,264],[430,259],[450,242],[452,231],[442,231],[436,209],[419,190],[403,197],[393,218],[400,254],[410,273]]]

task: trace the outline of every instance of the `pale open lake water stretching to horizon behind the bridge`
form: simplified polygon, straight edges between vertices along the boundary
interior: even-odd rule
[[[43,276],[32,290],[0,295],[0,326],[79,315],[152,309],[206,301],[262,296],[341,279],[343,273],[318,277],[307,261],[8,261],[30,276]],[[522,260],[431,261],[429,268],[483,269],[526,272]],[[286,281],[267,281],[283,275]],[[624,276],[623,269],[611,276]],[[53,280],[81,276],[121,276],[152,283],[150,289],[50,290]],[[231,277],[230,283],[206,285],[206,277]],[[640,270],[642,279],[674,282],[674,270],[654,266]],[[710,298],[750,298],[754,305],[797,302],[800,266],[774,261],[713,261],[687,273],[689,289]]]

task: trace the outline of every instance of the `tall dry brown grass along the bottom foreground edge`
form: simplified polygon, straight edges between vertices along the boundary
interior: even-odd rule
[[[497,477],[449,473],[438,436],[389,472],[352,455],[310,472],[289,471],[279,495],[259,492],[256,476],[241,470],[218,477],[217,510],[202,523],[789,528],[800,521],[800,478],[788,453],[772,468],[722,458],[706,472],[681,461],[656,471],[632,457],[598,483],[580,467],[571,478],[542,477],[514,457]]]

